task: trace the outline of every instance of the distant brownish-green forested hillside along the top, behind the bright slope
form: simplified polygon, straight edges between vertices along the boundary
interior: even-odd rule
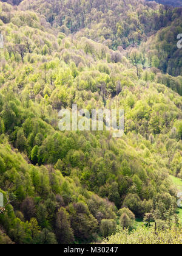
[[[21,2],[19,7],[44,15],[59,32],[79,32],[112,49],[139,44],[169,22],[161,12],[162,6],[145,0],[31,0]]]

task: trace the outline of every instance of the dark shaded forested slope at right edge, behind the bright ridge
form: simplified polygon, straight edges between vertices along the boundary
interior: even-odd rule
[[[151,60],[150,65],[172,76],[182,74],[182,51],[178,48],[180,34],[182,34],[182,8],[174,9],[170,26],[160,29],[141,47],[143,48],[141,51],[146,52],[146,56]]]

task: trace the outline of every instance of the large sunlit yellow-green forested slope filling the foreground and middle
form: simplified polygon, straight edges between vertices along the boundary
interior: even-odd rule
[[[98,241],[115,233],[123,206],[166,220],[176,207],[169,173],[182,172],[181,77],[59,32],[33,7],[0,5],[0,188],[13,201],[0,222],[9,238]],[[60,132],[58,111],[74,103],[124,108],[124,137]]]

